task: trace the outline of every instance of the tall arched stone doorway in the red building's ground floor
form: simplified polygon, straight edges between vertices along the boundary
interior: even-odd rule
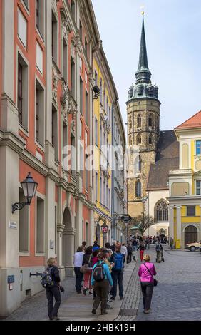
[[[71,212],[68,207],[63,212],[63,266],[66,275],[72,274],[73,270],[73,254],[74,254],[74,235]]]

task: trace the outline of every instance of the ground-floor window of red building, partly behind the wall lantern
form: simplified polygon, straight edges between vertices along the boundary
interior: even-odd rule
[[[26,202],[22,190],[19,190],[19,202]],[[19,211],[19,252],[29,252],[29,206]]]

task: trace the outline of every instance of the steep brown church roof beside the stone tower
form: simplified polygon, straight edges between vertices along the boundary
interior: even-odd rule
[[[147,190],[168,190],[170,170],[179,168],[179,143],[174,130],[160,132],[155,164],[150,165]]]

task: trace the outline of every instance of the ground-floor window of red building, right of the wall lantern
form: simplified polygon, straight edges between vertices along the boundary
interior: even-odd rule
[[[36,253],[44,252],[44,200],[37,197],[36,202]]]

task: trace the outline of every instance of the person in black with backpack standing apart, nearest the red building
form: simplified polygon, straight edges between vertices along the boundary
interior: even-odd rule
[[[46,297],[48,299],[48,317],[50,320],[58,321],[58,309],[61,304],[61,293],[63,289],[60,285],[61,279],[56,263],[56,259],[51,257],[48,259],[48,267],[41,276],[41,285],[46,289]],[[53,298],[55,304],[53,306]]]

